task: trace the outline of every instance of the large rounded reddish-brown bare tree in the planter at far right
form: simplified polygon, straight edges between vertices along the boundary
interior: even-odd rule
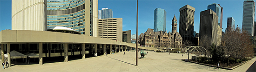
[[[240,59],[251,56],[252,46],[250,45],[249,34],[246,31],[241,31],[238,27],[229,28],[229,32],[222,36],[223,53],[226,55],[227,66],[229,58]]]

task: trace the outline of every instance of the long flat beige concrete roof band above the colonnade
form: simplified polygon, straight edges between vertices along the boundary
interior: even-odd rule
[[[27,31],[27,30],[3,30],[0,32],[0,44],[22,44],[22,43],[86,43],[86,44],[109,44],[136,47],[136,44],[103,39],[99,37],[86,36],[81,34],[60,33],[49,31]],[[150,47],[140,49],[156,50]]]

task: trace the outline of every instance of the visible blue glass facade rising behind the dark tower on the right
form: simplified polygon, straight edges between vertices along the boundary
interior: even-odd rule
[[[218,25],[221,26],[221,10],[222,7],[220,7],[218,4],[213,3],[208,5],[207,9],[211,9],[212,11],[214,11],[216,13],[216,15],[218,16]]]

